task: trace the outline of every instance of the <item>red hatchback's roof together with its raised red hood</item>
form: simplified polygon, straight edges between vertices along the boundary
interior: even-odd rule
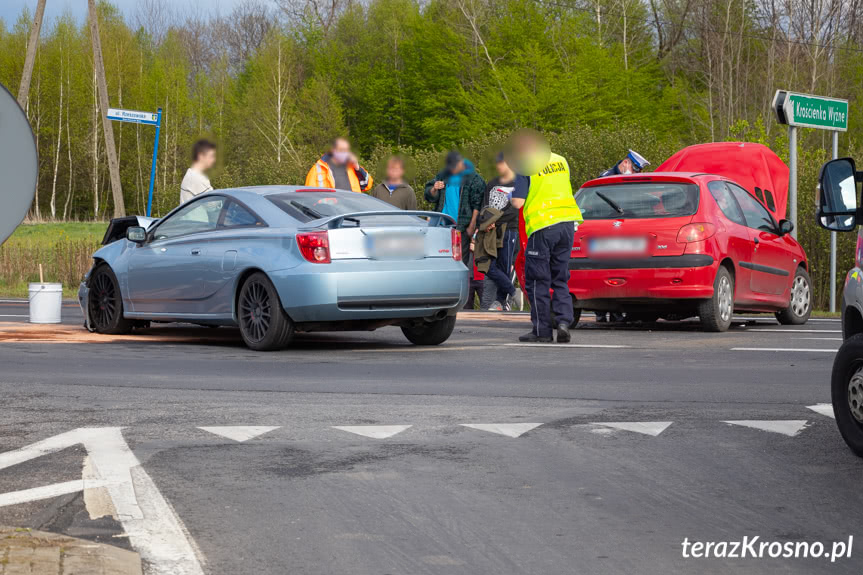
[[[597,178],[586,182],[583,187],[651,179],[693,182],[711,175],[740,184],[755,198],[759,195],[754,193],[756,188],[770,190],[775,200],[775,206],[772,206],[775,209],[770,211],[778,220],[785,218],[788,166],[770,148],[762,144],[716,142],[689,146],[665,160],[655,172]],[[767,209],[771,208],[768,204],[764,205]]]

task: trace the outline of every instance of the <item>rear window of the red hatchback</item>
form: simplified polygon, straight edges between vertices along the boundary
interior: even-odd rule
[[[575,201],[586,220],[676,218],[698,209],[698,186],[678,182],[638,182],[582,188]]]

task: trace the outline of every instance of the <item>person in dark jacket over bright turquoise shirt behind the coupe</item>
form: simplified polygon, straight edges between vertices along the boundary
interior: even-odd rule
[[[456,229],[461,232],[461,245],[466,257],[464,264],[473,273],[471,239],[476,232],[476,219],[482,208],[485,181],[473,163],[461,153],[453,150],[446,157],[446,166],[434,180],[425,185],[425,199],[436,212],[444,213],[456,220]]]

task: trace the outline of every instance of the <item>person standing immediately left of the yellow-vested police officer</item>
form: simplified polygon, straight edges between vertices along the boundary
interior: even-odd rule
[[[515,256],[518,253],[518,210],[512,205],[512,193],[515,190],[515,172],[504,160],[503,153],[498,153],[495,158],[497,177],[486,186],[483,205],[492,207],[502,212],[497,221],[492,224],[497,228],[504,228],[503,245],[498,248],[497,256],[491,258],[487,277],[496,287],[492,310],[510,311],[515,298],[515,286],[513,280],[513,266]]]

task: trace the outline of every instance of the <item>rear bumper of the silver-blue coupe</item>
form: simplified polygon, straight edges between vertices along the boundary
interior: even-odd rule
[[[270,272],[282,306],[296,322],[425,317],[456,313],[467,301],[461,262],[370,260],[303,264]]]

